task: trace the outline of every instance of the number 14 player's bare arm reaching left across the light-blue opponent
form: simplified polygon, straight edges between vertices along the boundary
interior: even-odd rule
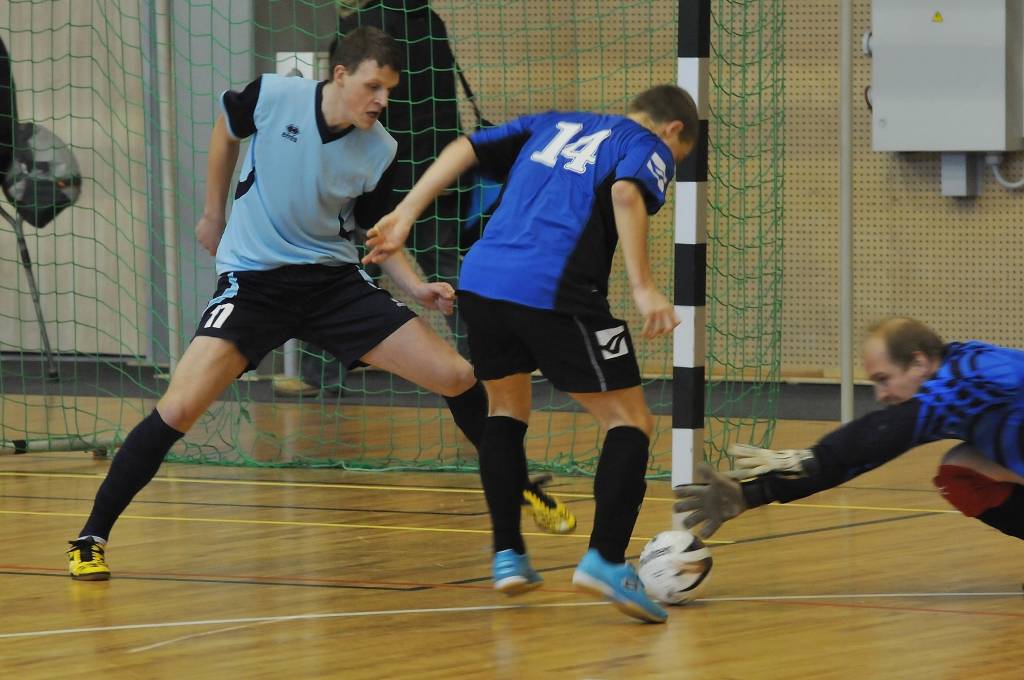
[[[427,206],[475,164],[476,152],[468,137],[459,137],[445,146],[401,203],[367,231],[369,252],[362,263],[381,263],[398,252]]]

